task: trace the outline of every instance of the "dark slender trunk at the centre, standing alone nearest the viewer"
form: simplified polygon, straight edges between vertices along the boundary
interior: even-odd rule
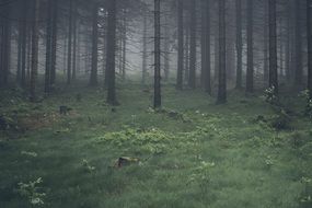
[[[161,107],[160,0],[154,0],[154,108]]]

